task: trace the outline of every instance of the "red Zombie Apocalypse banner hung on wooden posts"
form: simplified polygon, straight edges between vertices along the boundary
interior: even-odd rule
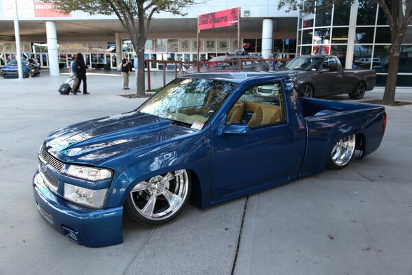
[[[239,8],[220,10],[198,16],[198,30],[222,28],[238,23]]]

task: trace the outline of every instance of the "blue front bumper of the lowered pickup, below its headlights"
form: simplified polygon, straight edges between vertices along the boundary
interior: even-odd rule
[[[91,248],[123,242],[122,206],[91,210],[70,203],[50,192],[38,170],[33,177],[33,192],[46,221],[71,241]]]

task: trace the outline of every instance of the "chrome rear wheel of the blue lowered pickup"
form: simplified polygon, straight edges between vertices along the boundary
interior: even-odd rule
[[[345,168],[354,156],[356,136],[347,135],[334,144],[328,160],[328,168],[339,170]]]

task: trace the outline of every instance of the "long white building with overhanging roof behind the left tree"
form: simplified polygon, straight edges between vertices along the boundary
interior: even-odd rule
[[[12,2],[0,0],[0,66],[14,58]],[[87,65],[93,68],[115,69],[119,52],[134,54],[133,45],[124,33],[115,16],[90,16],[84,12],[67,15],[48,9],[45,3],[33,0],[18,0],[21,29],[21,52],[37,58],[43,67],[49,67],[50,56],[47,43],[47,22],[56,27],[59,67],[68,67],[73,54],[81,52]],[[196,61],[197,18],[199,14],[241,8],[241,39],[244,50],[251,54],[262,53],[263,21],[271,20],[268,39],[272,51],[286,58],[293,58],[296,51],[297,12],[277,10],[277,3],[266,0],[216,1],[187,7],[185,16],[174,16],[168,12],[155,14],[146,42],[145,58],[155,60]],[[30,8],[27,8],[30,7]],[[43,10],[40,12],[39,10]],[[4,31],[2,31],[4,30]],[[275,43],[273,43],[273,41]],[[200,59],[224,55],[237,50],[237,28],[227,27],[201,32]],[[120,49],[119,49],[120,48]],[[117,54],[116,54],[117,53]],[[151,69],[162,69],[152,63]]]

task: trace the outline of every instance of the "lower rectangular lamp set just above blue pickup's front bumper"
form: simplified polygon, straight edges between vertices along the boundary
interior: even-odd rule
[[[84,206],[102,208],[108,189],[91,190],[80,186],[65,184],[64,197]]]

